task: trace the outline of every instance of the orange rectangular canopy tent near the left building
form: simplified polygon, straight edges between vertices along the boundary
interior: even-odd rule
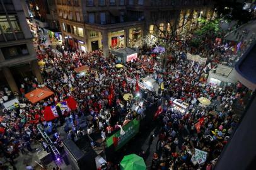
[[[25,97],[31,102],[31,103],[37,103],[38,101],[48,98],[54,94],[52,91],[50,91],[49,88],[44,86],[43,88],[37,88],[33,91],[30,91],[30,93],[26,93]]]

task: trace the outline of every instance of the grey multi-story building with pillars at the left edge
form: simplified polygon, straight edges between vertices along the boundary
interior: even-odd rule
[[[0,85],[7,85],[13,92],[22,77],[34,75],[42,81],[20,0],[0,1]]]

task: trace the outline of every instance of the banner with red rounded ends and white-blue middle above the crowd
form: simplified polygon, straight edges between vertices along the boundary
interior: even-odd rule
[[[56,110],[56,106],[61,108],[62,115],[64,115],[65,111],[76,110],[77,103],[74,98],[70,96],[69,98],[57,103],[54,106],[46,106],[44,110],[44,118],[46,121],[54,120],[59,116]]]

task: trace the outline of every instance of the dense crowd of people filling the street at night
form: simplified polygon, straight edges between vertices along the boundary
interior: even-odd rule
[[[141,50],[136,60],[118,68],[115,65],[120,61],[113,55],[103,57],[100,50],[83,52],[64,45],[57,45],[57,50],[36,47],[38,61],[44,63],[40,65],[44,81],[25,77],[20,83],[20,96],[18,93],[11,94],[8,88],[0,93],[1,106],[11,96],[20,99],[13,110],[3,110],[0,120],[1,153],[15,166],[14,159],[20,152],[25,154],[33,150],[33,139],[42,142],[47,150],[45,141],[38,133],[38,123],[45,128],[69,124],[67,137],[74,141],[94,132],[100,132],[104,141],[133,118],[146,115],[144,106],[132,110],[132,106],[137,105],[136,99],[123,98],[127,93],[136,96],[139,91],[136,84],[127,81],[127,77],[139,80],[151,76],[160,86],[163,84],[163,88],[153,92],[161,97],[161,106],[154,120],[161,123],[162,130],[152,169],[195,169],[198,165],[190,161],[194,148],[208,153],[204,166],[211,169],[214,164],[211,161],[219,156],[238,123],[232,106],[241,101],[244,107],[246,103],[243,103],[243,97],[248,93],[248,89],[240,86],[219,88],[206,84],[206,74],[211,68],[218,63],[232,65],[240,57],[238,52],[243,52],[249,43],[242,42],[238,48],[237,45],[215,38],[207,37],[199,48],[190,47],[189,37],[177,38],[177,41],[172,42],[166,67],[161,67],[161,61],[151,54],[151,50]],[[185,59],[187,52],[207,57],[207,64],[199,65]],[[83,65],[88,67],[85,74],[74,71]],[[32,105],[25,98],[25,93],[43,86],[51,89],[54,95]],[[143,89],[140,91],[144,93]],[[55,105],[69,96],[76,99],[78,109],[71,111],[65,122],[59,122],[56,118],[52,124],[47,123],[44,120],[44,107]],[[216,105],[210,109],[200,108],[197,99],[202,96]],[[173,110],[173,99],[188,103],[189,111],[183,114]],[[218,105],[221,109],[215,113],[213,110]],[[81,120],[85,120],[86,126],[81,127]],[[195,128],[197,122],[201,122],[199,130]],[[57,148],[62,149],[59,134],[56,133],[53,139]]]

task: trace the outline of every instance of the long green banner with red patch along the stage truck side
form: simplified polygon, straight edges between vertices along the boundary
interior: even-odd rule
[[[131,140],[132,137],[134,137],[139,132],[139,120],[134,119],[122,128],[124,130],[122,134],[124,135],[121,135],[121,130],[119,130],[110,137],[107,137],[107,147],[114,145],[115,150],[119,150],[127,142],[129,142],[129,140]]]

